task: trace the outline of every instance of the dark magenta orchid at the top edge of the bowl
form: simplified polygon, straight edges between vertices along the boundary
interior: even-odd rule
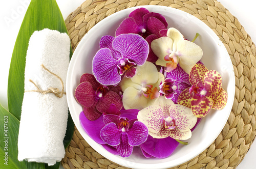
[[[129,17],[122,21],[115,35],[133,33],[145,38],[151,34],[160,36],[159,31],[166,29],[167,26],[168,23],[161,14],[139,8],[131,12]]]

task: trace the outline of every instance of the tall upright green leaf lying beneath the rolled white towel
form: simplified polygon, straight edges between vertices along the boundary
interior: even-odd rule
[[[8,106],[11,115],[13,115],[13,117],[18,121],[17,131],[24,96],[24,73],[28,42],[34,31],[40,31],[45,28],[68,34],[65,21],[63,20],[62,14],[55,0],[32,0],[24,17],[23,23],[20,26],[20,30],[15,42],[8,78]],[[71,49],[70,58],[72,54],[73,52]],[[67,148],[70,144],[73,132],[74,123],[69,113],[67,132],[63,140],[65,148]],[[15,138],[17,140],[17,135]],[[10,163],[17,163],[17,159],[13,159],[16,161],[10,160]],[[43,163],[25,163],[27,168],[45,168]],[[26,168],[19,166],[16,167]],[[51,166],[50,168],[58,167],[59,163]],[[46,168],[48,168],[48,165],[46,165]]]

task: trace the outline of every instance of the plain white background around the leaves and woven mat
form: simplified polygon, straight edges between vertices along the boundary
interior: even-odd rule
[[[31,0],[11,0],[2,1],[0,5],[0,103],[8,108],[7,85],[11,56],[19,27],[22,24],[24,15]],[[73,12],[84,0],[56,0],[63,18]],[[252,0],[220,0],[221,4],[227,8],[232,15],[236,16],[245,27],[245,31],[250,35],[253,42],[256,42],[256,1]],[[0,117],[1,118],[1,117]],[[251,145],[244,160],[237,169],[256,168],[256,141]]]

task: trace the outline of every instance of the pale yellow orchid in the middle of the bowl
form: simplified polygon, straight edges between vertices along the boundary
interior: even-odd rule
[[[123,91],[123,107],[141,110],[148,106],[152,99],[159,96],[159,84],[164,80],[162,73],[157,71],[151,62],[137,67],[137,73],[132,78],[123,78],[119,86]]]

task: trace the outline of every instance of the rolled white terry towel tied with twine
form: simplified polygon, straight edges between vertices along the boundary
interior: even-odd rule
[[[66,33],[44,29],[29,40],[25,67],[25,93],[18,134],[18,160],[54,165],[65,156],[63,138],[68,120],[67,97],[36,92],[58,88],[66,92],[70,39]],[[50,72],[61,78],[57,78]],[[35,85],[29,80],[33,80]]]

